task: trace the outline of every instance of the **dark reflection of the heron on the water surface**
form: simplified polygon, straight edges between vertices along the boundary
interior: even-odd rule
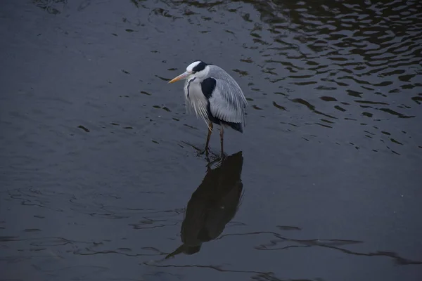
[[[193,192],[181,224],[183,244],[165,259],[180,253],[195,254],[203,242],[216,239],[234,218],[241,202],[242,152],[226,157],[215,169],[208,166],[203,182]]]

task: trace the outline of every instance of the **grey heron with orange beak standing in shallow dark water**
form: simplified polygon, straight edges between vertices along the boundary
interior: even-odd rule
[[[241,133],[245,127],[245,110],[248,102],[241,87],[221,67],[201,60],[188,65],[186,72],[174,77],[169,83],[181,79],[186,79],[184,84],[186,105],[193,109],[196,117],[203,118],[208,126],[204,152],[208,154],[212,124],[218,124],[223,155],[223,127]]]

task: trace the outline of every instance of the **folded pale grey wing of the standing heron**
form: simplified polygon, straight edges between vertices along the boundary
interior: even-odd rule
[[[245,124],[245,109],[248,105],[241,87],[227,74],[215,78],[215,90],[210,98],[210,111],[213,117],[226,122]]]

